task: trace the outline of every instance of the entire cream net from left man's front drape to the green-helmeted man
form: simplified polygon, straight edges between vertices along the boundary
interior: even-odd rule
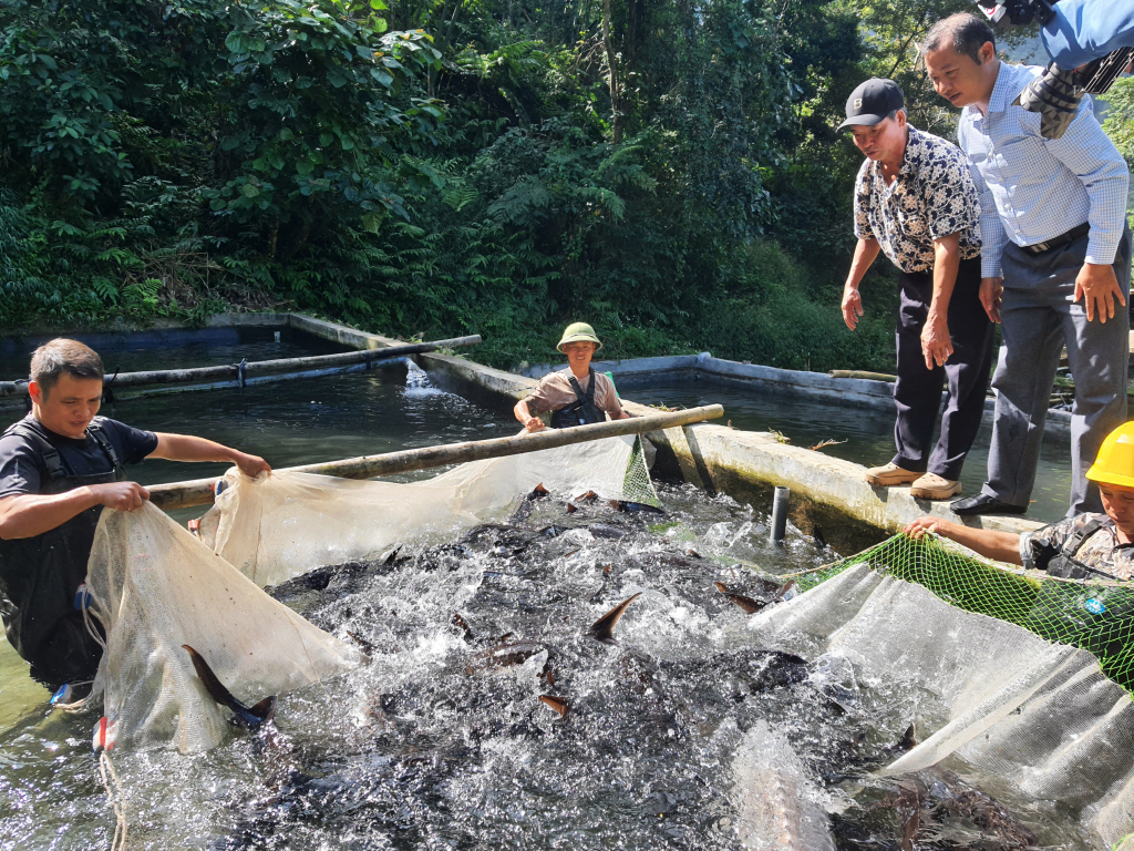
[[[235,469],[225,482],[201,539],[151,505],[103,512],[87,589],[107,650],[90,700],[102,698],[115,747],[192,752],[223,740],[231,713],[209,697],[183,644],[245,705],[357,663],[356,650],[264,585],[398,544],[451,540],[502,519],[541,483],[567,496],[657,500],[633,437],[473,462],[413,483],[289,472],[254,481]]]

